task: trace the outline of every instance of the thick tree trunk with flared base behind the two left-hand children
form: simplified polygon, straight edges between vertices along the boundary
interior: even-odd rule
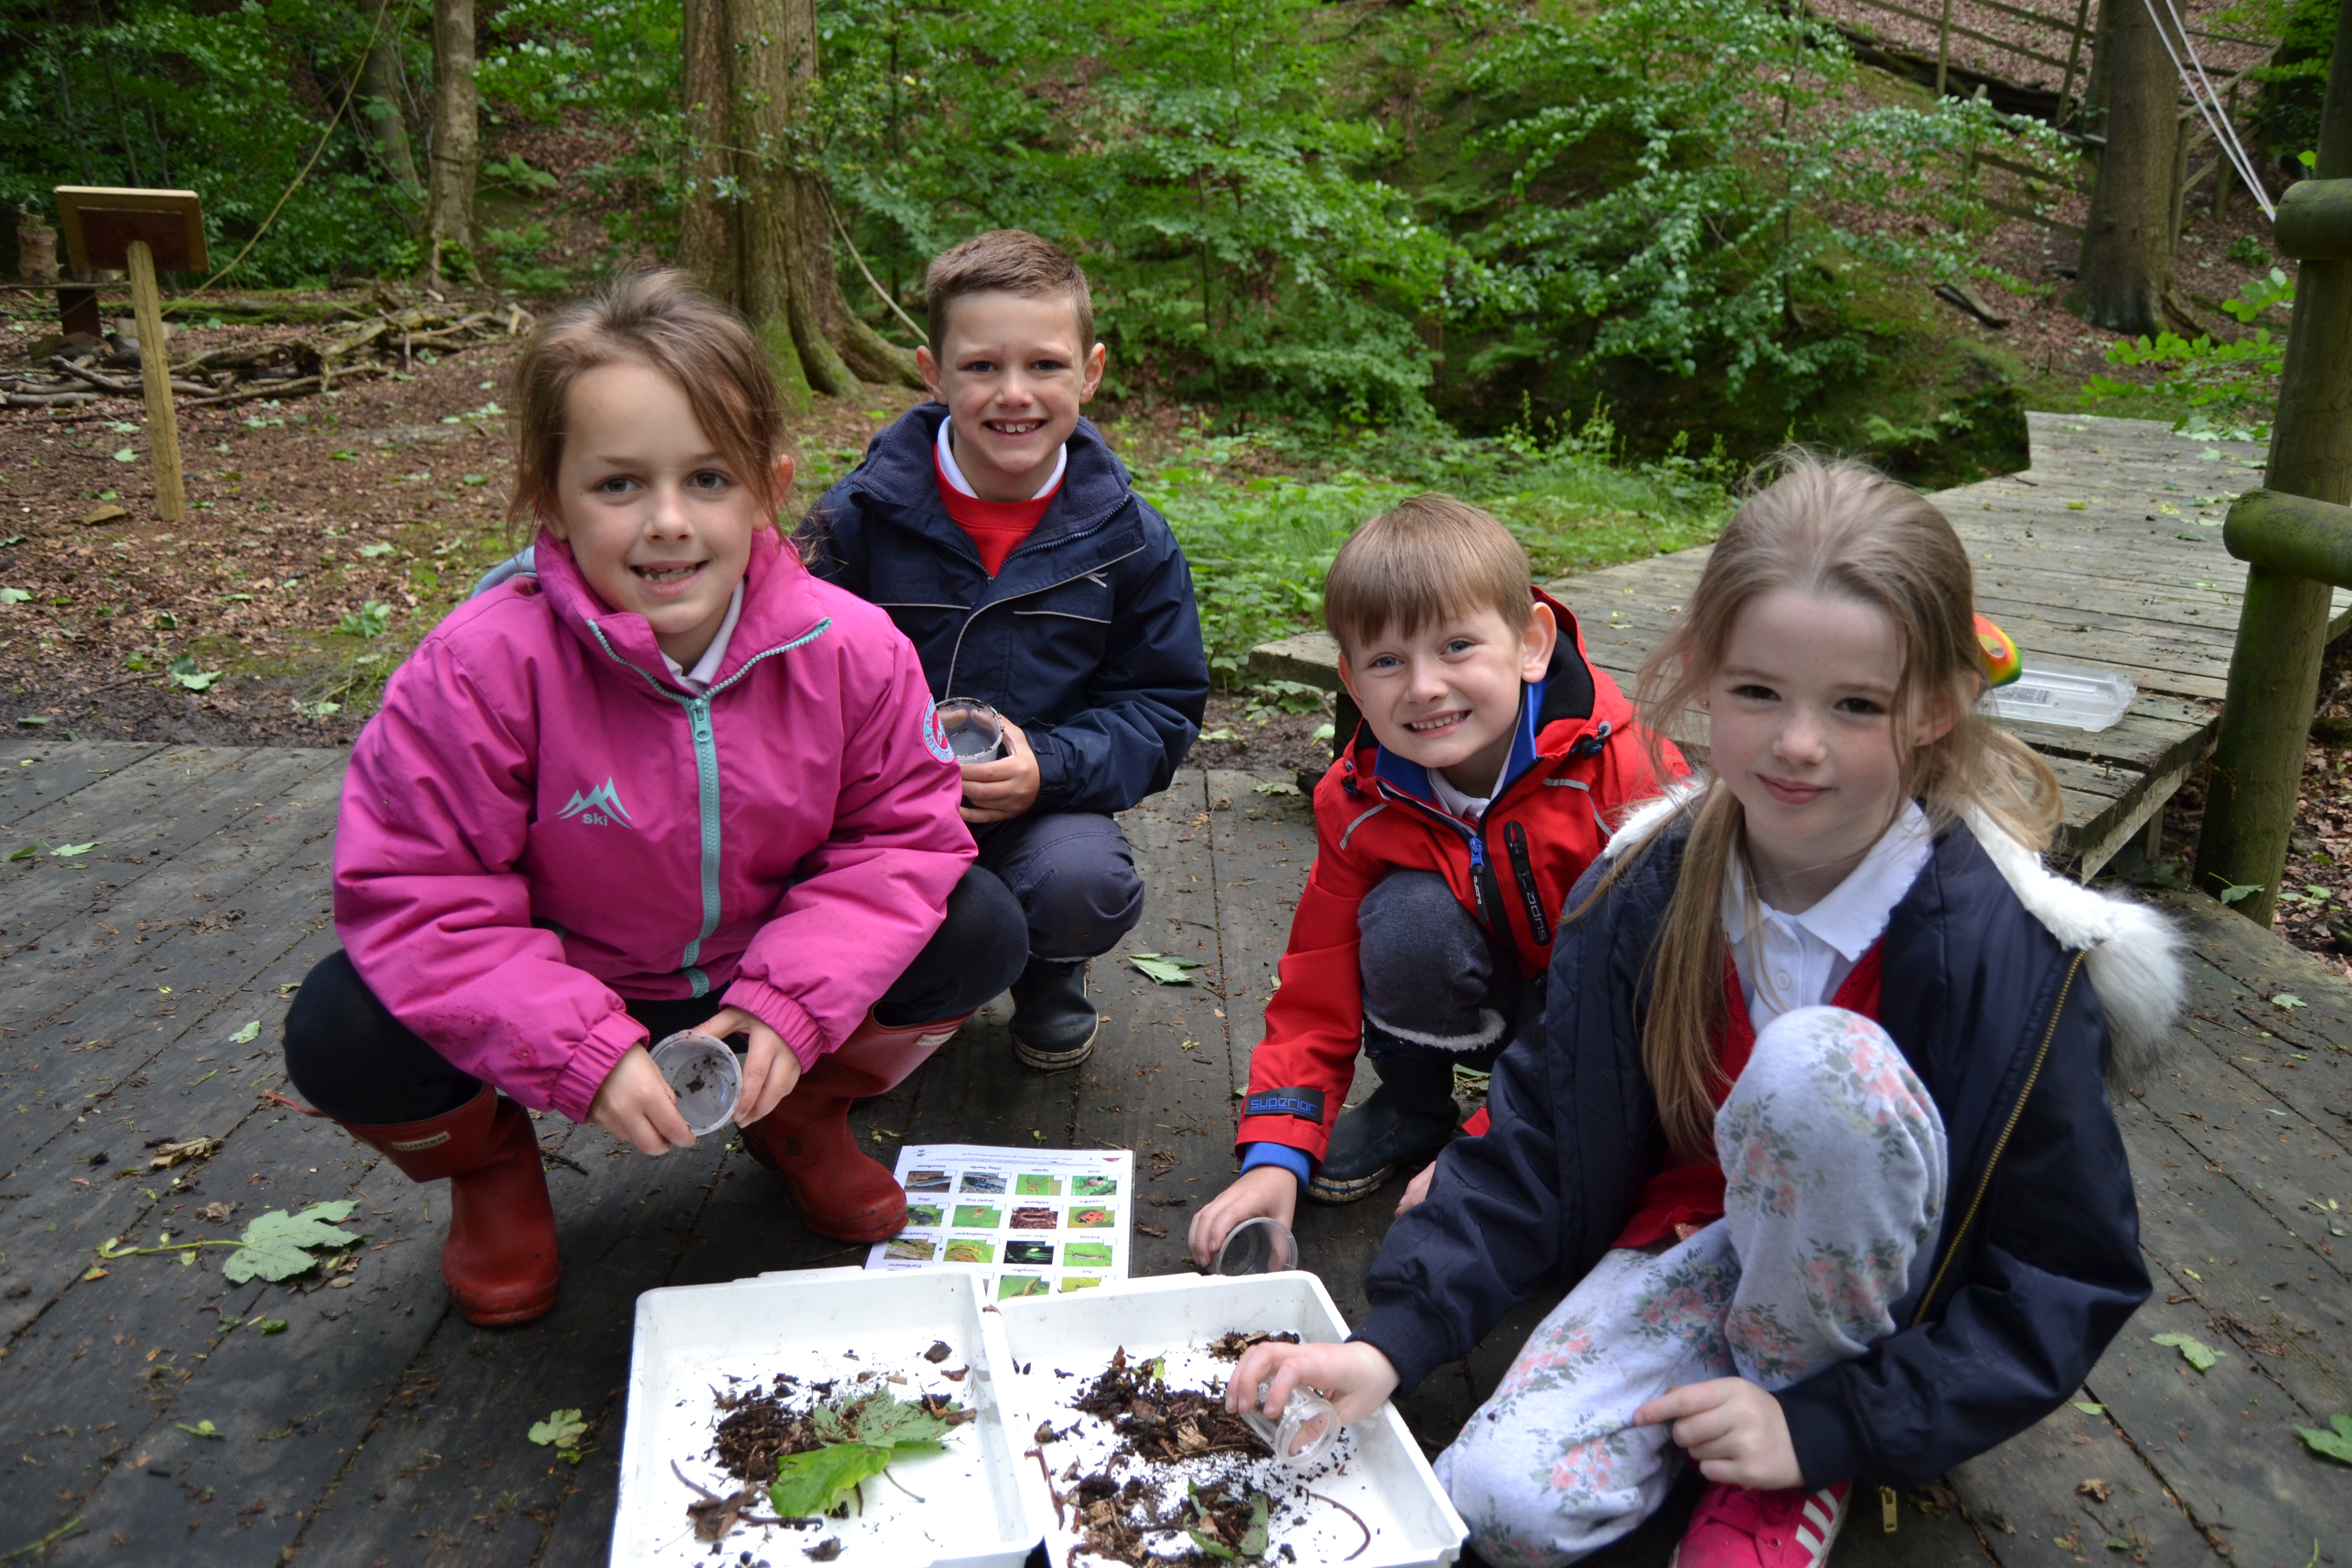
[[[677,259],[743,313],[788,390],[847,397],[858,376],[922,386],[915,357],[842,299],[830,195],[797,143],[814,75],[814,0],[687,0]]]

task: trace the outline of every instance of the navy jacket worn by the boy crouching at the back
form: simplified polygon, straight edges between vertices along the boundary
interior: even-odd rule
[[[946,404],[891,421],[802,520],[809,569],[882,607],[934,698],[974,696],[1037,750],[1037,811],[1127,811],[1176,776],[1209,705],[1192,569],[1084,418],[1037,529],[988,576],[938,498]]]

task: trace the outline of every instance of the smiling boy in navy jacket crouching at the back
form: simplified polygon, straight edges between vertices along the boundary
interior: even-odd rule
[[[1110,816],[1169,785],[1209,701],[1192,571],[1077,416],[1103,376],[1080,266],[993,230],[938,256],[927,292],[936,402],[873,440],[802,538],[818,576],[889,611],[934,698],[1004,715],[1007,755],[964,764],[964,820],[1028,919],[1014,1053],[1075,1067],[1101,1027],[1087,959],[1143,914]]]

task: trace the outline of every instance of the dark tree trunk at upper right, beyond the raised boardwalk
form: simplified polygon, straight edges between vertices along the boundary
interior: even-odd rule
[[[2133,336],[2169,324],[2197,331],[2173,280],[2173,150],[2180,78],[2145,0],[2107,0],[2107,148],[2098,158],[2074,296],[2082,320]],[[2176,40],[2178,42],[2178,40]]]

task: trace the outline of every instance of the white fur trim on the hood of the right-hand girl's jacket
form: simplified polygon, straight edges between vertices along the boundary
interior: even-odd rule
[[[1646,842],[1672,813],[1691,804],[1705,783],[1696,778],[1644,802],[1609,837],[1602,858],[1613,860]],[[2056,875],[2042,856],[2009,837],[1983,811],[1971,806],[1962,820],[2025,912],[2067,952],[2089,952],[2084,969],[2091,990],[2098,992],[2112,1044],[2107,1081],[2119,1088],[2145,1084],[2161,1065],[2173,1023],[2187,1006],[2180,931],[2143,903]]]

